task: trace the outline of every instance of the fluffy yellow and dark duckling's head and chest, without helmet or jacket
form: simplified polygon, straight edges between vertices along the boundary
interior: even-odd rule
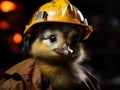
[[[94,76],[80,65],[86,58],[80,28],[55,24],[36,32],[31,35],[30,54],[53,90],[99,90]]]

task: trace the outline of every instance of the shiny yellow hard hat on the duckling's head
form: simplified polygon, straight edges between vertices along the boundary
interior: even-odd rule
[[[36,25],[42,26],[47,23],[67,23],[77,27],[85,27],[84,39],[87,39],[93,28],[88,25],[82,13],[72,5],[68,0],[52,0],[39,7],[34,13],[29,25],[26,25],[24,34],[30,34]]]

